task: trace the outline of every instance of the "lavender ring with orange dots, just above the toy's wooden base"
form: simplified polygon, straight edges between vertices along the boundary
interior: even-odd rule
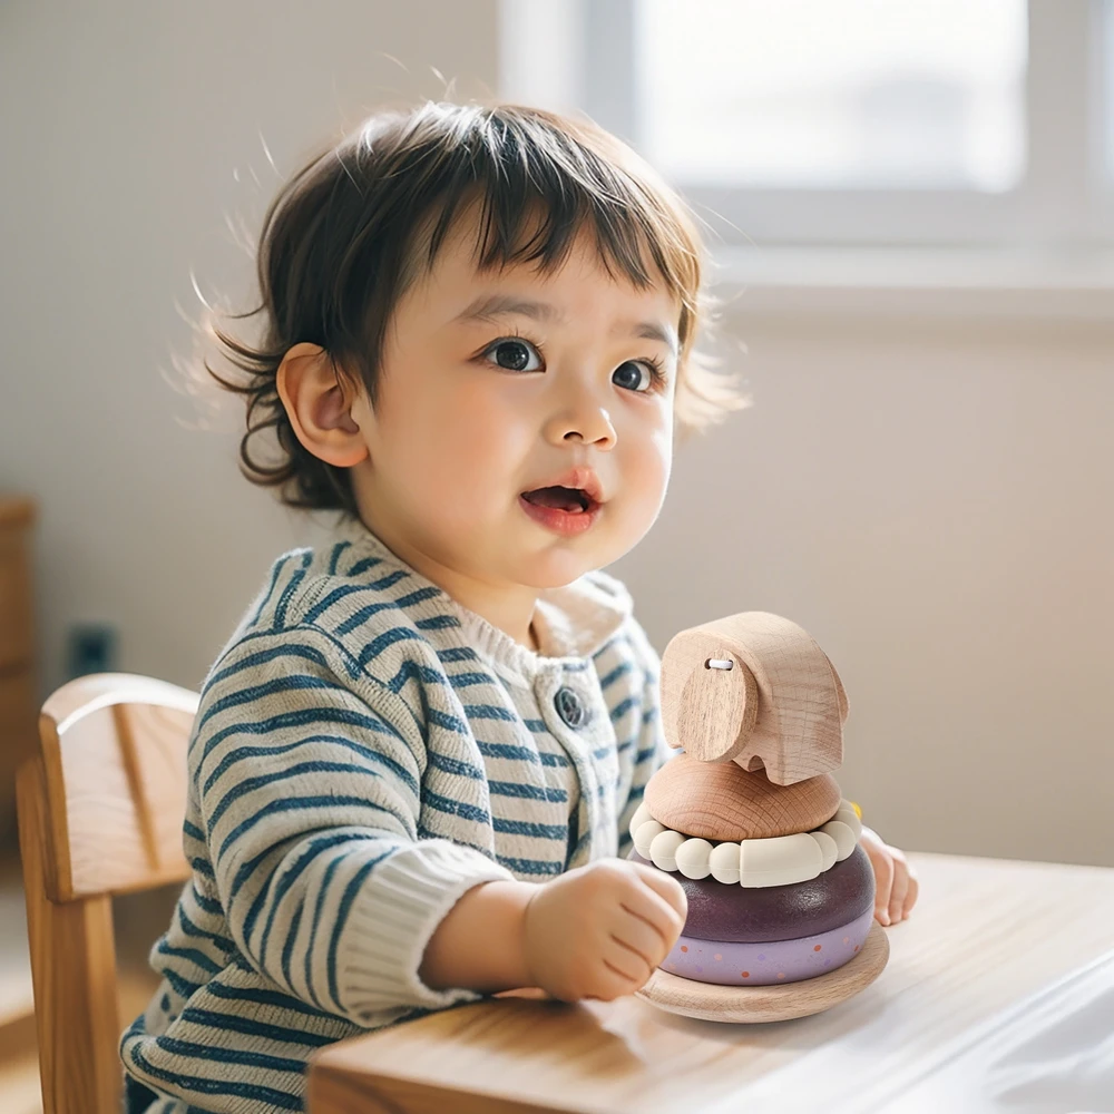
[[[867,939],[873,908],[842,928],[770,944],[727,944],[682,936],[662,969],[696,983],[769,986],[825,975],[853,959]]]

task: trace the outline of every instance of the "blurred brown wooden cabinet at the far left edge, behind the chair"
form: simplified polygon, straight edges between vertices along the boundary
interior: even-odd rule
[[[35,620],[28,499],[0,496],[0,840],[16,838],[16,768],[35,745]]]

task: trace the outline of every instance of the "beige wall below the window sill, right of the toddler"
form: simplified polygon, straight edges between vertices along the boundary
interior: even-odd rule
[[[613,567],[655,643],[785,615],[847,685],[840,784],[888,839],[1114,866],[1114,328],[732,324],[755,404]]]

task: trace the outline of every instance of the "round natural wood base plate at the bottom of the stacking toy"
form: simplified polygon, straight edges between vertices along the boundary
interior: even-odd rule
[[[720,986],[658,968],[637,996],[667,1013],[707,1022],[785,1022],[819,1014],[854,997],[881,975],[889,958],[890,941],[874,921],[862,950],[827,975],[784,986]]]

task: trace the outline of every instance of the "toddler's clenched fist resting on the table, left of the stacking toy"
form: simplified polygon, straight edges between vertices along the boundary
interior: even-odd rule
[[[524,917],[534,985],[555,998],[634,994],[685,925],[685,891],[655,867],[602,859],[537,888]]]

